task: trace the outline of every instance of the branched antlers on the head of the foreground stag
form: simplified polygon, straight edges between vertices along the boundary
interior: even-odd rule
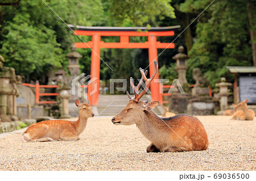
[[[150,87],[150,83],[152,82],[152,80],[154,79],[156,73],[157,73],[157,70],[158,70],[158,64],[156,63],[156,60],[154,60],[154,65],[155,65],[155,70],[154,70],[154,73],[152,74],[152,76],[147,79],[146,75],[147,75],[147,70],[144,71],[144,69],[142,68],[139,68],[139,70],[141,71],[141,80],[139,81],[138,85],[137,86],[134,86],[134,83],[133,83],[133,78],[131,77],[130,78],[130,83],[131,83],[131,87],[133,87],[133,91],[134,91],[134,96],[131,97],[129,92],[126,91],[126,94],[127,96],[129,97],[129,99],[134,99],[134,100],[139,100],[142,98],[142,96],[144,94],[146,94],[147,90],[149,89]],[[146,83],[146,87],[145,89],[141,92],[141,94],[139,94],[139,87],[141,87],[142,85],[142,82],[143,82],[143,79]]]

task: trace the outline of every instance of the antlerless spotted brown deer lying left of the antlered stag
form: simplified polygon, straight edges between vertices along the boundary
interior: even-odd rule
[[[92,107],[88,103],[80,103],[76,100],[76,106],[80,107],[77,121],[47,120],[34,123],[27,128],[22,135],[23,142],[36,141],[73,141],[79,140],[79,134],[84,131],[88,117],[93,117]]]

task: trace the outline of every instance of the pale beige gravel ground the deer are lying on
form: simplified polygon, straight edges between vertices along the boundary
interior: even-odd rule
[[[256,170],[255,119],[197,117],[208,133],[204,151],[146,153],[150,141],[135,125],[98,117],[89,119],[79,141],[24,143],[21,132],[0,136],[0,170]]]

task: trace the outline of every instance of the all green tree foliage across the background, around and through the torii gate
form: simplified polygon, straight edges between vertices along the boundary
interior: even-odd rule
[[[15,3],[18,0],[3,0]],[[181,25],[174,37],[159,37],[171,42],[212,0],[45,0],[67,24],[81,26],[174,26]],[[67,70],[65,54],[70,45],[81,42],[79,37],[52,12],[42,0],[21,0],[15,5],[0,4],[0,54],[6,66],[13,66],[17,74],[27,80],[46,76],[51,69]],[[162,78],[176,78],[175,61],[179,45],[189,51],[187,79],[192,69],[200,68],[208,75],[210,84],[221,77],[233,81],[226,66],[253,65],[252,45],[256,43],[255,0],[214,1],[175,40],[175,49],[166,49],[159,57]],[[176,18],[176,19],[174,19]],[[85,42],[91,37],[81,37]],[[119,37],[102,37],[105,42],[118,42]],[[147,41],[147,37],[133,37],[132,42]],[[90,49],[78,49],[81,71],[90,73]],[[158,50],[158,53],[162,49]],[[255,50],[256,52],[256,50]],[[101,49],[101,79],[140,77],[138,68],[148,65],[147,49]]]

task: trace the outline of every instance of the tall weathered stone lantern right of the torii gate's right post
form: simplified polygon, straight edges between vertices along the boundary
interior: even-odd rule
[[[184,83],[188,83],[186,78],[186,71],[188,69],[187,66],[187,54],[184,53],[184,47],[180,46],[178,48],[178,54],[176,54],[172,59],[176,60],[176,67],[175,70],[178,73],[178,79],[181,85],[184,85]]]

